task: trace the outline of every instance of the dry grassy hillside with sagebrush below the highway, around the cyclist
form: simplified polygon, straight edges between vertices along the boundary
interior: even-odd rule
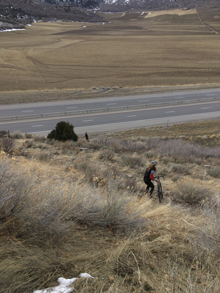
[[[219,121],[194,126],[88,143],[1,138],[0,292],[30,293],[81,272],[95,277],[74,283],[81,293],[219,292]],[[161,204],[145,195],[152,159],[165,176]]]

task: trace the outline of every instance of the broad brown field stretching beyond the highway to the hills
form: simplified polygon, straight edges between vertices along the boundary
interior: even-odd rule
[[[0,91],[219,84],[219,35],[196,11],[163,13],[1,32]]]

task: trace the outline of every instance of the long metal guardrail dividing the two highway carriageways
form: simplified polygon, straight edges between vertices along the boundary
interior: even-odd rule
[[[126,110],[126,109],[135,109],[135,108],[149,108],[149,107],[166,106],[166,105],[200,103],[200,102],[208,102],[208,101],[215,101],[215,100],[220,100],[220,97],[204,98],[204,99],[196,99],[196,100],[185,100],[185,101],[181,100],[181,101],[153,103],[153,104],[144,104],[144,105],[130,105],[130,106],[121,106],[121,107],[112,107],[112,108],[87,109],[87,110],[79,110],[79,111],[67,111],[67,112],[33,114],[33,115],[24,115],[24,116],[0,117],[0,121],[28,119],[28,118],[40,118],[40,117],[48,117],[48,116],[66,116],[66,115],[73,115],[73,114],[106,112],[106,111]]]

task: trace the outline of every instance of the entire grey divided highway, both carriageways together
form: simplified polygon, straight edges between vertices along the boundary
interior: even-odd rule
[[[138,105],[146,103],[170,102],[177,99],[194,100],[202,98],[220,97],[220,90],[192,91],[183,93],[166,93],[164,95],[145,95],[135,97],[120,97],[111,99],[94,99],[85,101],[68,101],[68,103],[47,103],[31,105],[10,105],[0,109],[1,117],[19,116],[39,113],[56,113],[77,110],[117,107],[122,105]],[[71,110],[74,110],[72,108]],[[30,111],[30,112],[26,112]],[[45,112],[44,112],[45,111]],[[90,114],[75,114],[62,117],[33,118],[16,121],[2,121],[1,130],[21,130],[22,133],[35,133],[47,135],[53,130],[59,121],[69,121],[74,125],[77,134],[84,132],[108,132],[129,128],[148,127],[153,125],[168,125],[187,121],[199,121],[208,119],[219,119],[220,101],[208,101],[202,103],[189,103],[180,105],[168,105],[161,107],[118,110],[112,112],[99,112]],[[168,121],[169,119],[169,121]]]

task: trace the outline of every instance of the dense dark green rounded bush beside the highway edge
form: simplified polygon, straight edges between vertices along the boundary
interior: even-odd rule
[[[68,121],[60,121],[57,123],[55,129],[53,129],[47,136],[49,139],[56,139],[59,141],[73,140],[77,142],[78,135],[74,132],[74,126]]]

